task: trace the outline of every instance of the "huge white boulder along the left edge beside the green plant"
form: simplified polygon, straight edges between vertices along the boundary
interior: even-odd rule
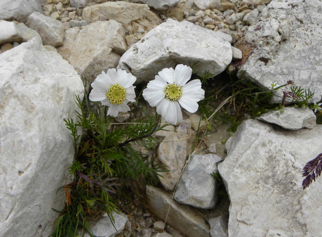
[[[64,207],[75,151],[63,119],[77,121],[84,86],[39,38],[0,55],[0,233],[49,236]],[[81,131],[79,131],[81,134]]]

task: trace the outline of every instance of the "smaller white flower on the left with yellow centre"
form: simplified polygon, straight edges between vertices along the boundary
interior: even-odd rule
[[[93,89],[89,98],[91,101],[100,101],[103,105],[109,106],[107,115],[116,117],[119,112],[130,111],[127,105],[129,101],[135,102],[133,83],[136,80],[135,76],[125,70],[108,69],[90,84]]]

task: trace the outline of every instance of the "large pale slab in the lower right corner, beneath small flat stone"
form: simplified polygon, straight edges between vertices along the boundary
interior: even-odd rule
[[[231,201],[230,237],[312,237],[322,226],[322,180],[302,190],[302,168],[321,153],[322,125],[284,130],[245,120],[218,166]],[[313,218],[317,217],[317,218]]]

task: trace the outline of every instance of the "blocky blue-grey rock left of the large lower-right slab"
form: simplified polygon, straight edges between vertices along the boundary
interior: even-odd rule
[[[217,163],[222,159],[215,154],[192,155],[175,191],[177,202],[197,208],[211,209],[217,202]]]

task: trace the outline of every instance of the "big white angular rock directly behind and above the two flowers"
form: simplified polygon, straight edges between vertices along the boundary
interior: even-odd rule
[[[198,75],[217,75],[232,60],[230,35],[214,32],[191,22],[168,19],[150,30],[122,55],[119,68],[131,71],[137,83],[150,81],[163,68],[198,62]]]

